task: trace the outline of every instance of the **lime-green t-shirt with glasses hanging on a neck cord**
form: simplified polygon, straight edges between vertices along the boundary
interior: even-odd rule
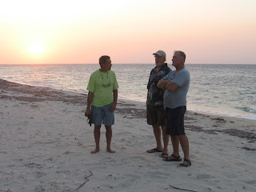
[[[114,71],[109,70],[106,73],[100,70],[94,71],[90,75],[87,86],[87,90],[94,93],[94,99],[91,104],[100,107],[114,102],[113,90],[117,90],[118,87],[118,81]]]

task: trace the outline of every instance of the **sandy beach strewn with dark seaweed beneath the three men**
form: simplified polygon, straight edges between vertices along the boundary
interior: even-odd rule
[[[117,107],[117,152],[106,152],[102,127],[101,150],[90,154],[86,94],[0,79],[0,192],[256,191],[256,121],[187,111],[192,166],[180,168],[146,152],[155,141],[145,103]]]

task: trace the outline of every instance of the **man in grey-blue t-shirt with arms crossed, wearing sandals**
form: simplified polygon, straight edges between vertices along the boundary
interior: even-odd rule
[[[175,51],[173,66],[176,70],[171,71],[166,77],[158,82],[158,87],[166,89],[163,96],[163,105],[166,110],[166,134],[170,135],[174,152],[165,161],[180,162],[179,143],[184,153],[184,161],[181,167],[191,166],[189,141],[184,129],[184,114],[186,112],[186,94],[190,87],[190,72],[185,68],[186,54]]]

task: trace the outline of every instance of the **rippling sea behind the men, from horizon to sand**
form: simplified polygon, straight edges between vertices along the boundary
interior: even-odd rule
[[[146,85],[154,66],[114,64],[118,98],[146,102]],[[256,120],[256,65],[187,64],[186,68],[191,77],[188,110]],[[98,69],[98,64],[0,65],[0,78],[87,93],[90,74]]]

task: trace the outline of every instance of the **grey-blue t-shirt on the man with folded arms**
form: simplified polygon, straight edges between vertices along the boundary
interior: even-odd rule
[[[186,94],[190,87],[190,72],[184,67],[175,74],[176,70],[170,71],[162,80],[170,79],[179,87],[174,91],[165,90],[163,94],[163,106],[174,109],[178,106],[186,106]]]

